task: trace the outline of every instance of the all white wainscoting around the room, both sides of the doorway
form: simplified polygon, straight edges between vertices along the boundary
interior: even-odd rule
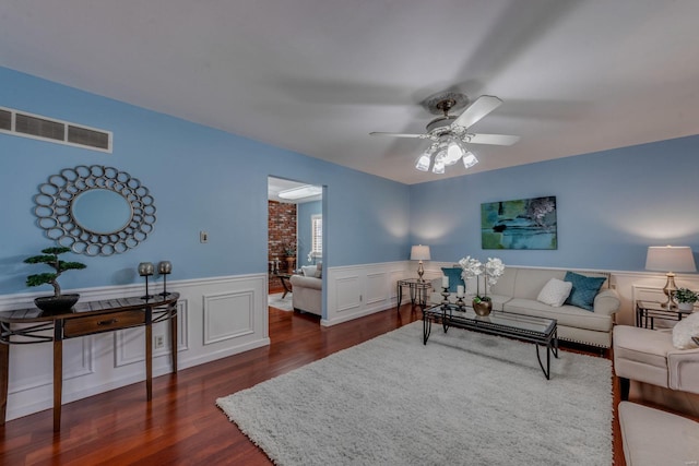
[[[441,276],[441,266],[425,263],[425,279]],[[633,325],[635,299],[662,294],[665,275],[647,272],[601,271],[612,274],[612,286],[621,299],[616,322]],[[396,282],[416,276],[411,261],[329,267],[322,325],[335,325],[394,308]],[[174,280],[168,288],[178,301],[179,369],[210,362],[270,344],[266,310],[266,274],[194,280]],[[675,277],[678,287],[699,289],[699,275]],[[82,300],[109,299],[143,292],[142,285],[67,290]],[[653,295],[654,294],[654,295]],[[0,311],[33,306],[39,294],[0,296]],[[165,337],[165,348],[154,350],[153,375],[171,371],[169,332],[155,324],[154,337]],[[143,328],[92,335],[63,343],[63,403],[114,390],[145,379]],[[8,420],[52,406],[52,347],[49,343],[10,348]],[[143,387],[145,403],[145,386]]]

